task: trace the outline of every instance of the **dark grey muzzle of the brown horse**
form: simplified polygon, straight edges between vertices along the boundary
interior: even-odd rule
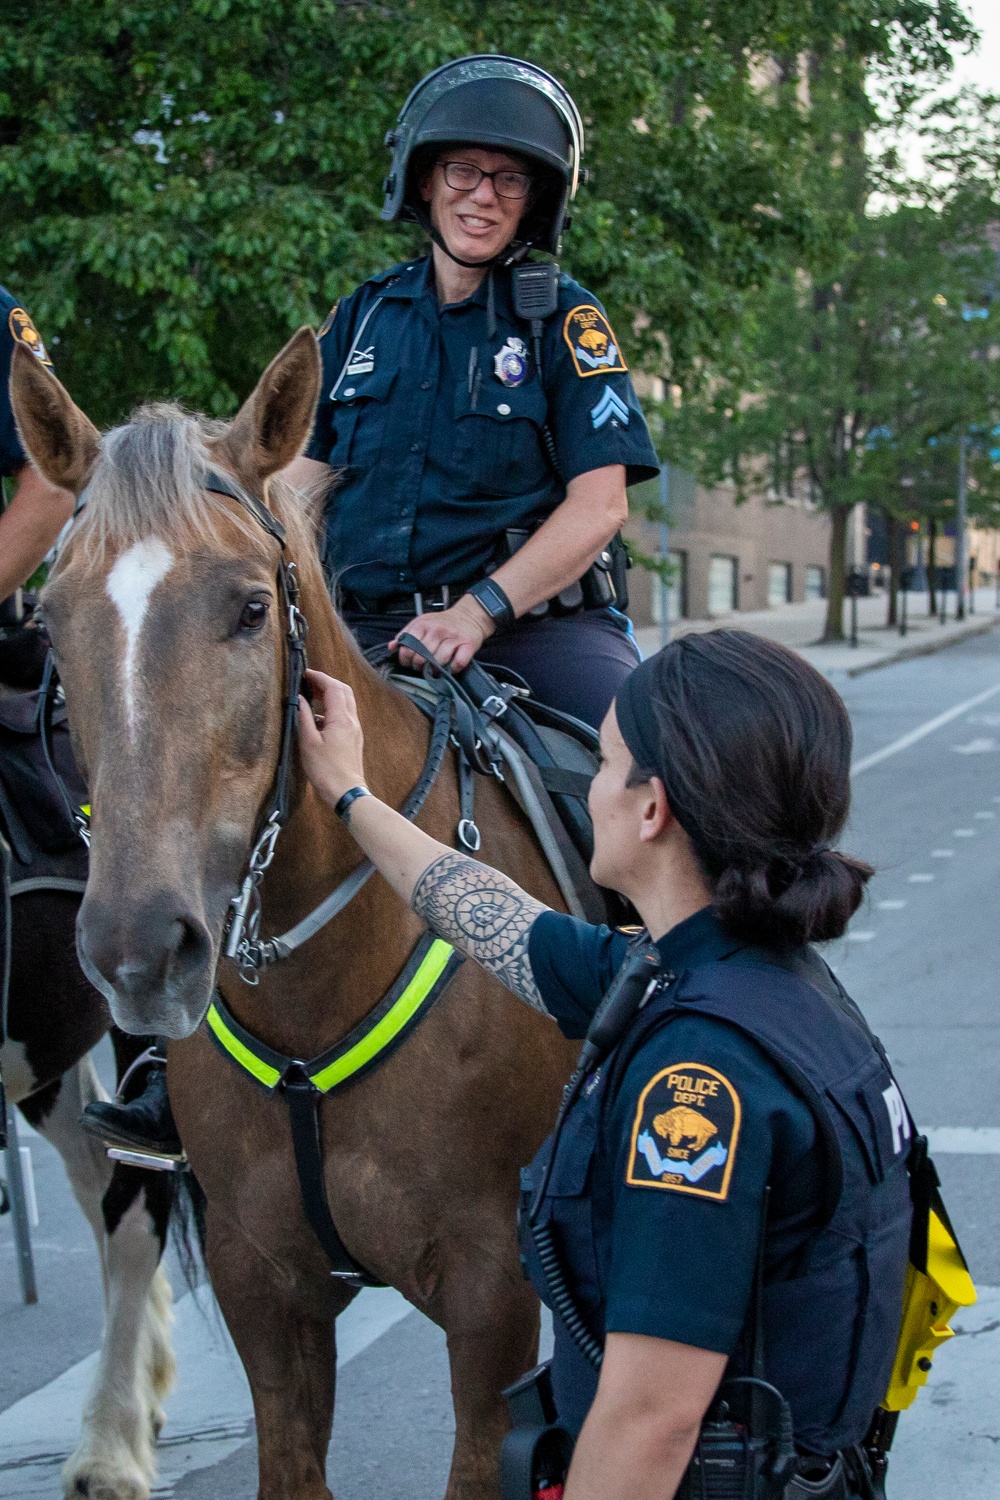
[[[84,974],[121,1030],[189,1036],[211,998],[214,950],[204,920],[180,892],[130,902],[84,897],[76,921]]]

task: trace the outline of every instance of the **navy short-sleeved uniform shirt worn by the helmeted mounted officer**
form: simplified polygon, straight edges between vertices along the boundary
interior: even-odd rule
[[[546,320],[541,380],[508,272],[441,308],[430,256],[345,297],[321,332],[322,390],[307,456],[339,483],[327,562],[343,588],[378,597],[469,584],[508,526],[549,516],[579,474],[658,459],[601,304],[568,276]],[[546,453],[547,423],[559,465]]]

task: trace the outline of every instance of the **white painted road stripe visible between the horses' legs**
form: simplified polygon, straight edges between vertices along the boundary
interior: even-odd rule
[[[355,1359],[414,1308],[391,1287],[361,1292],[337,1318],[337,1370]],[[166,1402],[157,1446],[157,1500],[192,1468],[210,1468],[253,1434],[253,1407],[243,1365],[208,1287],[175,1305],[177,1386]],[[79,1413],[97,1354],[88,1354],[0,1413],[0,1497],[51,1500],[58,1472],[79,1437]]]

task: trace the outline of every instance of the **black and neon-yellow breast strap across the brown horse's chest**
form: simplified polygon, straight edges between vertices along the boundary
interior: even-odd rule
[[[303,1210],[330,1260],[331,1274],[355,1287],[382,1286],[340,1239],[322,1174],[319,1101],[381,1066],[444,994],[463,963],[451,944],[424,933],[402,974],[369,1014],[336,1046],[310,1062],[267,1047],[241,1026],[216,993],[205,1023],[220,1052],[268,1094],[283,1094],[295,1152]]]

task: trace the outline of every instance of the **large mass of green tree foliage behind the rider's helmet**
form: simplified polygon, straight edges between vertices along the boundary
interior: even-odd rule
[[[634,357],[687,378],[775,261],[840,234],[798,58],[903,78],[967,30],[955,0],[0,0],[0,18],[1,278],[102,423],[168,394],[232,411],[291,328],[415,248],[378,220],[381,142],[412,84],[469,51],[571,87],[594,176],[565,264]]]

